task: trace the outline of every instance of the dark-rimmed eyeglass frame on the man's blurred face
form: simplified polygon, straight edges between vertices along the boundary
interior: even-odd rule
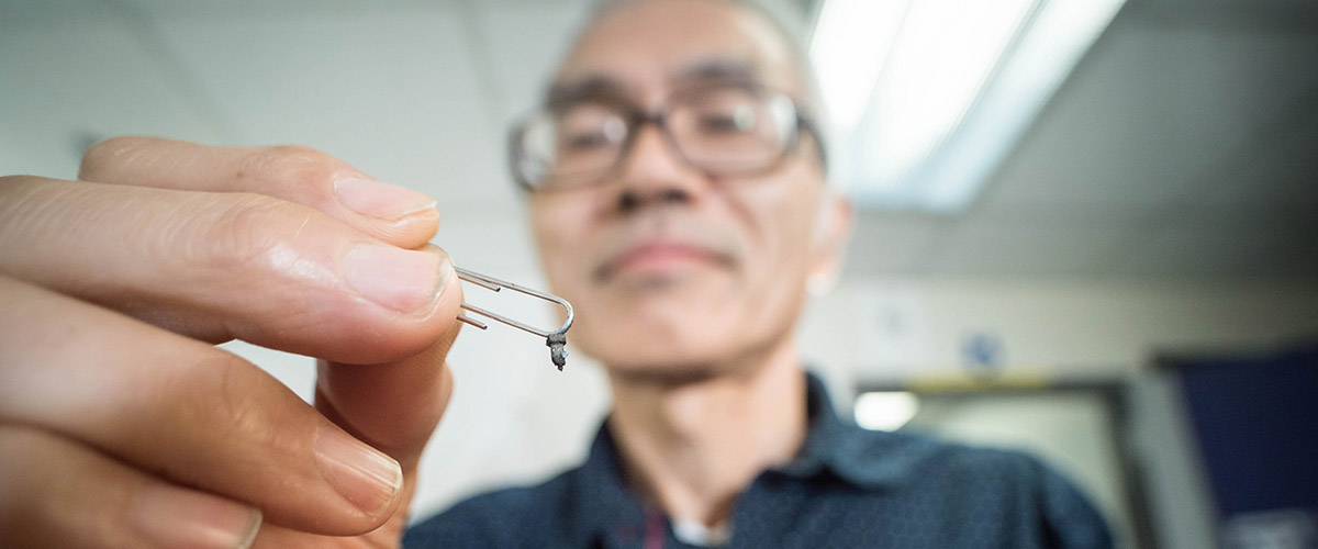
[[[718,88],[742,88],[742,90],[747,90],[747,91],[750,91],[753,93],[764,95],[768,99],[776,99],[776,97],[786,99],[788,101],[788,104],[792,105],[792,112],[793,112],[795,118],[796,118],[795,128],[793,128],[791,138],[788,138],[783,144],[782,150],[778,153],[778,157],[774,161],[766,163],[763,167],[757,167],[754,170],[733,170],[733,171],[713,172],[708,167],[704,167],[704,166],[700,166],[700,165],[692,162],[691,158],[688,158],[687,154],[681,150],[681,146],[677,145],[677,138],[673,137],[672,132],[668,129],[668,125],[667,125],[667,117],[668,117],[668,112],[670,112],[671,105],[673,103],[680,103],[681,97],[693,96],[693,95],[709,92],[710,90],[718,90]],[[609,174],[614,172],[614,170],[617,170],[618,166],[621,166],[626,161],[626,158],[631,154],[631,147],[635,146],[637,136],[641,134],[641,129],[645,128],[648,124],[652,124],[655,126],[655,129],[659,130],[659,134],[663,136],[664,141],[668,145],[668,150],[672,151],[683,163],[685,163],[687,166],[689,166],[692,169],[696,169],[696,170],[700,170],[700,171],[705,172],[705,175],[708,175],[710,178],[730,176],[730,175],[754,176],[754,175],[767,174],[767,172],[771,172],[774,170],[778,170],[782,166],[783,161],[786,161],[792,154],[796,154],[796,150],[800,146],[800,141],[801,141],[801,134],[803,133],[809,133],[811,138],[815,141],[815,150],[816,150],[816,154],[818,155],[820,167],[824,169],[824,170],[828,169],[828,155],[825,154],[824,138],[822,138],[822,136],[821,136],[821,133],[818,130],[818,125],[816,124],[815,117],[811,116],[801,107],[800,101],[792,99],[792,96],[789,96],[787,93],[779,92],[779,91],[768,88],[766,86],[759,86],[759,84],[721,84],[721,86],[701,86],[701,87],[695,87],[695,88],[689,88],[689,90],[683,90],[683,91],[675,92],[675,93],[672,93],[668,97],[668,100],[664,101],[663,107],[659,111],[656,111],[656,112],[646,112],[646,111],[643,111],[641,108],[637,108],[635,103],[625,100],[622,97],[617,97],[617,96],[601,95],[601,96],[592,96],[592,97],[589,97],[588,101],[597,103],[597,104],[601,104],[601,105],[605,105],[605,107],[610,107],[610,108],[617,109],[617,112],[619,112],[619,113],[623,115],[623,122],[625,122],[625,125],[627,128],[627,136],[626,136],[626,138],[623,140],[623,142],[621,145],[621,151],[619,151],[618,157],[614,158],[614,161],[613,161],[613,163],[610,166],[608,166],[606,169],[600,170],[600,175],[598,176],[596,176],[592,180],[588,180],[587,183],[579,183],[579,184],[572,184],[572,186],[567,186],[567,187],[554,187],[554,186],[535,184],[535,183],[530,182],[527,179],[526,174],[523,174],[522,170],[519,169],[518,163],[519,163],[521,158],[523,158],[525,154],[526,154],[525,150],[523,150],[523,146],[522,146],[523,137],[525,137],[526,132],[530,129],[531,124],[535,122],[535,117],[540,116],[540,115],[543,115],[546,112],[561,111],[561,109],[565,109],[569,105],[576,105],[576,104],[583,103],[583,101],[584,100],[581,100],[581,99],[564,100],[564,101],[551,101],[551,103],[546,104],[544,107],[536,109],[535,112],[532,112],[532,113],[530,113],[527,116],[523,116],[509,130],[509,137],[507,137],[509,171],[511,171],[513,180],[517,183],[517,186],[519,188],[522,188],[522,191],[525,191],[527,194],[530,194],[530,192],[542,192],[542,191],[546,191],[546,190],[548,190],[550,192],[555,192],[555,191],[568,191],[568,190],[587,188],[587,187],[598,186],[605,179],[608,179]]]

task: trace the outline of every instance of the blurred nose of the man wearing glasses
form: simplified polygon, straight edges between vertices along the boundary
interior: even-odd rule
[[[643,124],[637,132],[619,166],[617,204],[621,211],[652,203],[688,203],[704,192],[705,175],[687,165],[658,125]]]

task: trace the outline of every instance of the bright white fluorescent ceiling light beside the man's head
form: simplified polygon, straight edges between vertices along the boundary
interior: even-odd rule
[[[1123,1],[825,0],[833,175],[862,205],[963,208]]]

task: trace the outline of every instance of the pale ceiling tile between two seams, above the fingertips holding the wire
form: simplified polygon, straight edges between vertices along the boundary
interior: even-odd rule
[[[510,204],[502,140],[451,11],[161,18],[245,144],[302,144],[440,199]]]

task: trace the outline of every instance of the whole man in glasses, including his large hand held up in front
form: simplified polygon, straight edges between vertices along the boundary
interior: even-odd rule
[[[409,546],[1110,544],[1035,461],[862,432],[804,374],[849,208],[759,12],[606,8],[547,107],[518,179],[614,409],[583,467]],[[461,301],[434,201],[301,147],[120,138],[79,179],[0,183],[0,545],[397,545]],[[235,337],[320,357],[315,409]]]

